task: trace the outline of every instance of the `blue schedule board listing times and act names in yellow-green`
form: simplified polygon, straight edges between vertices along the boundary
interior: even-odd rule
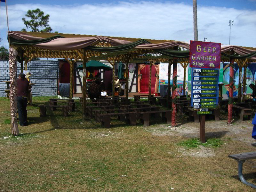
[[[191,69],[191,103],[193,108],[217,108],[219,69]]]

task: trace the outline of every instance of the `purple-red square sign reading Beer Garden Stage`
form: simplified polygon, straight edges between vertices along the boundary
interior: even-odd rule
[[[220,68],[220,48],[220,43],[190,41],[189,67]]]

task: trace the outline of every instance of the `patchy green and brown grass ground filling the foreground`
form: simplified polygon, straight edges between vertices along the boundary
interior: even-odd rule
[[[252,121],[235,119],[229,127],[224,117],[218,124],[208,120],[202,146],[199,124],[185,115],[177,114],[176,129],[162,118],[149,127],[113,120],[104,129],[83,121],[79,102],[68,117],[61,110],[39,117],[36,106],[48,99],[33,97],[29,125],[14,137],[10,100],[0,98],[0,191],[255,191],[239,181],[238,164],[228,158],[255,150]],[[245,179],[254,184],[255,166],[255,160],[244,163]]]

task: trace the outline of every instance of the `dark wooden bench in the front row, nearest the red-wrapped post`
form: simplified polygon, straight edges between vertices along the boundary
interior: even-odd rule
[[[140,122],[144,124],[144,126],[149,126],[149,115],[162,113],[162,120],[166,121],[167,124],[172,122],[172,111],[171,110],[161,110],[161,111],[145,111],[139,112]]]

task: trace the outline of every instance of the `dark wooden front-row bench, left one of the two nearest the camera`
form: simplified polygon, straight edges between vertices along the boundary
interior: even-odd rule
[[[120,121],[126,120],[127,124],[136,125],[136,112],[122,112],[122,113],[106,113],[100,114],[101,125],[105,128],[110,128],[111,116],[119,116]],[[125,116],[125,118],[124,118]]]

